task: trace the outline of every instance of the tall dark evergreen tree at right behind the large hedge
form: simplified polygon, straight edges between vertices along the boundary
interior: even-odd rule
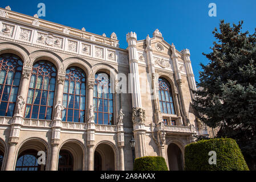
[[[207,65],[200,64],[201,89],[193,92],[193,107],[209,127],[220,127],[217,137],[237,140],[250,169],[256,164],[256,28],[242,32],[243,22],[220,22],[213,31],[218,42],[203,53]]]

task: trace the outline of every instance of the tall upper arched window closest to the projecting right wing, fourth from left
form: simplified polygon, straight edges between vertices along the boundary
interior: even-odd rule
[[[99,72],[95,75],[94,111],[95,123],[113,125],[113,93],[106,73]]]

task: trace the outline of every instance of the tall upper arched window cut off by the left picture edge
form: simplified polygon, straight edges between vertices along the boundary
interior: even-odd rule
[[[4,53],[0,56],[0,115],[2,116],[13,116],[22,67],[23,63],[18,56],[12,53]]]

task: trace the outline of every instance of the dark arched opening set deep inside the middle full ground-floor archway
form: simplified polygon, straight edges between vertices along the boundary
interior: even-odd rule
[[[73,171],[73,156],[67,150],[60,150],[58,171]]]

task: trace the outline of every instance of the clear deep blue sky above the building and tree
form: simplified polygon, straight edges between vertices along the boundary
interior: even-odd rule
[[[208,60],[202,52],[209,52],[213,45],[214,27],[220,19],[238,23],[243,20],[243,31],[254,32],[256,27],[255,0],[166,0],[166,1],[1,1],[0,6],[10,5],[11,10],[26,15],[38,11],[38,3],[46,5],[46,16],[40,17],[51,22],[74,28],[86,28],[86,31],[108,37],[116,32],[120,47],[126,48],[125,35],[135,31],[137,39],[152,37],[156,28],[162,32],[164,40],[174,43],[181,51],[190,49],[192,67],[196,81],[199,81],[200,62]],[[217,17],[208,16],[209,3],[216,3]]]

